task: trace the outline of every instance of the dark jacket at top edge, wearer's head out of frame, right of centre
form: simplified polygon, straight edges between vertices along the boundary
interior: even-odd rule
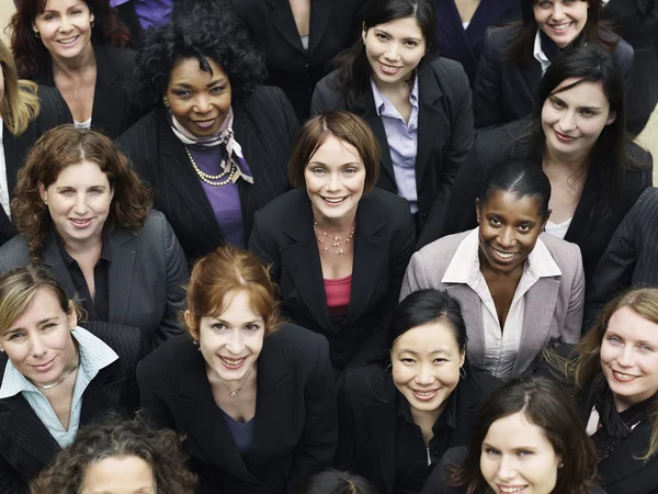
[[[462,64],[473,87],[487,29],[519,19],[521,3],[519,0],[481,1],[466,30],[454,0],[434,0],[434,7],[439,53]]]

